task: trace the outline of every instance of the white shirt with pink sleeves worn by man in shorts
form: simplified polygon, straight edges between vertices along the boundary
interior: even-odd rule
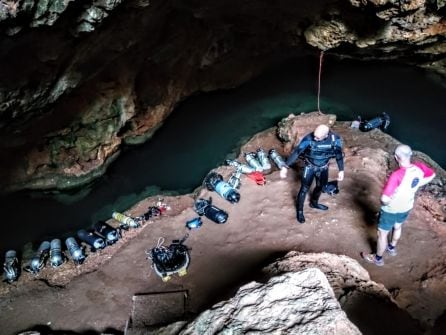
[[[400,167],[390,175],[384,186],[383,195],[390,202],[382,209],[388,213],[404,213],[412,209],[417,190],[426,185],[434,175],[434,171],[421,162],[410,167]]]

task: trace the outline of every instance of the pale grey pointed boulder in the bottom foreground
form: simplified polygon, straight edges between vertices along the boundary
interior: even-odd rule
[[[266,284],[249,283],[230,300],[180,325],[177,331],[175,324],[169,326],[169,334],[361,334],[317,268],[276,276]],[[166,334],[167,329],[148,333]]]

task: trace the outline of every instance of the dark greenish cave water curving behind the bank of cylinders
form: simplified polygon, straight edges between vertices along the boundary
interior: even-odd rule
[[[253,134],[289,113],[316,110],[317,71],[318,59],[293,59],[238,89],[188,99],[148,143],[124,150],[106,176],[77,194],[55,199],[17,193],[0,199],[0,250],[65,238],[162,191],[190,192]],[[391,135],[443,167],[444,106],[445,83],[422,70],[324,59],[321,110],[341,120],[385,111]]]

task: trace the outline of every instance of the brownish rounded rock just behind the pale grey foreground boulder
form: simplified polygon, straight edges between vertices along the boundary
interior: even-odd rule
[[[377,320],[380,320],[381,325],[397,323],[402,334],[421,333],[419,323],[398,307],[384,285],[372,281],[369,273],[350,257],[293,251],[267,266],[264,271],[276,276],[312,267],[325,274],[343,310],[363,332],[382,332],[377,324]]]

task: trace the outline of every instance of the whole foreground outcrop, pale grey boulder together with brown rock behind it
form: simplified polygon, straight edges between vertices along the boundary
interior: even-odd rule
[[[263,272],[269,278],[265,284],[244,285],[233,298],[212,306],[193,321],[144,331],[153,335],[249,331],[360,334],[382,332],[384,324],[393,322],[401,333],[422,333],[418,322],[398,307],[389,291],[372,281],[350,257],[292,251]],[[131,326],[127,329],[129,334],[142,331]]]

